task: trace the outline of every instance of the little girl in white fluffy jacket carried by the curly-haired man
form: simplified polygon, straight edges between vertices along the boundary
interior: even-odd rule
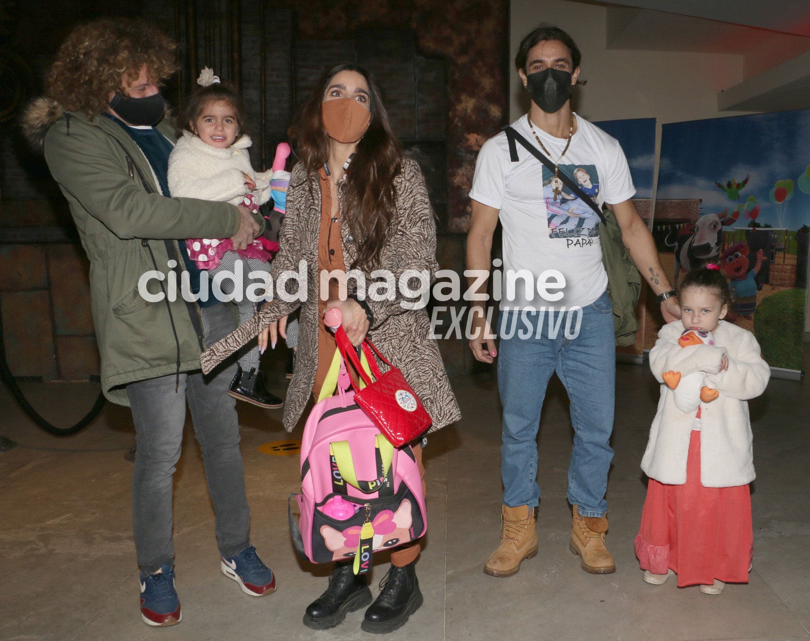
[[[235,89],[220,83],[210,69],[203,69],[197,83],[201,88],[194,92],[185,109],[183,136],[168,159],[169,191],[173,197],[228,201],[258,211],[258,206],[271,198],[273,172],[254,172],[250,165],[251,141],[242,133],[241,98]],[[220,277],[219,286],[222,293],[233,297],[239,309],[240,324],[253,318],[256,301],[249,294],[257,285],[248,274],[269,272],[269,262],[278,251],[278,244],[262,236],[246,249],[236,251],[228,239],[194,238],[186,240],[185,244],[191,260],[197,263],[198,269],[208,270],[212,281],[217,274],[234,274],[237,261],[242,261],[242,278]],[[240,280],[244,287],[237,292]],[[228,394],[260,407],[281,407],[283,401],[265,388],[259,356],[258,346],[241,356]]]

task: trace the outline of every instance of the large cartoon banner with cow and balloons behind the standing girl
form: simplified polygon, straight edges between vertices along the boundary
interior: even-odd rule
[[[663,125],[653,236],[664,269],[677,284],[720,265],[727,321],[756,335],[771,367],[794,372],[804,369],[808,225],[810,110]],[[648,322],[646,348],[658,329]]]

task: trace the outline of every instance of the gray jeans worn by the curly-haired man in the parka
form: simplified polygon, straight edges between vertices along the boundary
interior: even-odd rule
[[[228,305],[218,303],[203,308],[206,347],[232,332],[234,326]],[[215,376],[203,376],[201,371],[181,372],[177,392],[174,375],[126,386],[138,446],[132,473],[132,528],[142,575],[152,574],[174,560],[173,474],[180,458],[186,401],[203,452],[220,554],[236,556],[250,545],[236,401],[227,394],[236,371],[233,363]]]

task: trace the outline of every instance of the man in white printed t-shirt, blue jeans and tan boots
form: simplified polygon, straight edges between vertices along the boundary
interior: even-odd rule
[[[484,566],[493,576],[518,572],[537,554],[535,531],[537,431],[548,380],[554,371],[568,391],[573,450],[568,499],[573,506],[570,549],[592,574],[616,571],[605,547],[605,491],[613,451],[616,348],[612,305],[602,265],[599,216],[559,177],[567,174],[598,206],[616,215],[633,261],[656,295],[664,318],[680,316],[646,224],[630,200],[636,192],[619,142],[571,111],[570,93],[581,54],[571,37],[540,26],[521,42],[515,66],[531,96],[531,111],[512,126],[552,163],[552,172],[506,134],[481,147],[470,197],[467,269],[490,270],[492,233],[503,227],[500,354],[484,303],[473,308],[470,348],[492,363],[498,356],[503,405],[501,544]],[[498,266],[498,265],[496,265]],[[475,278],[471,285],[486,291]]]

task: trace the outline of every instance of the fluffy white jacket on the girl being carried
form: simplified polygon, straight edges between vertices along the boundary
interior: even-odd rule
[[[242,134],[227,149],[218,149],[198,136],[183,132],[168,157],[168,191],[173,197],[192,197],[209,201],[228,201],[240,205],[248,192],[245,172],[253,178],[258,204],[270,200],[272,171],[254,172],[250,166],[249,136]]]

